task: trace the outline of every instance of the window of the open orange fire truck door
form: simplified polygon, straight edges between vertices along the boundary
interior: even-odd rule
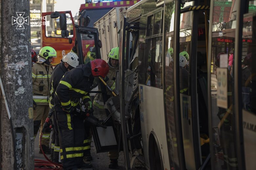
[[[67,13],[66,18],[67,18],[67,30],[69,31],[68,38],[72,38],[73,37],[73,24],[72,24],[70,14]],[[51,18],[50,15],[46,15],[45,22],[47,23],[46,31],[45,31],[46,37],[66,38],[66,37],[61,37],[59,17]]]

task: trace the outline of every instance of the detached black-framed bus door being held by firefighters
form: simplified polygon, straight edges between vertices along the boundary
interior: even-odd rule
[[[96,57],[96,59],[101,59],[100,56],[100,48],[98,44],[93,44],[93,49],[91,52],[88,52],[88,55],[85,55],[84,51],[86,48],[87,41],[98,42],[98,29],[97,28],[90,28],[90,27],[84,27],[84,26],[78,26],[75,25],[76,30],[76,39],[77,39],[77,53],[79,57],[79,64],[88,63],[93,59],[90,59],[90,57]],[[98,86],[100,86],[101,91],[97,91],[97,93],[102,93],[103,102],[106,103],[108,96],[106,92],[105,85],[99,80],[100,82]],[[91,87],[91,90],[95,88],[97,84],[94,84]],[[90,93],[93,93],[93,91],[90,91]],[[99,125],[92,125],[92,132],[93,132],[93,138],[94,143],[96,147],[96,152],[109,152],[109,151],[115,151],[118,148],[118,135],[117,131],[114,127],[113,122],[110,119],[110,113],[106,109],[106,119],[105,120],[99,120],[102,122],[106,128],[103,128]]]

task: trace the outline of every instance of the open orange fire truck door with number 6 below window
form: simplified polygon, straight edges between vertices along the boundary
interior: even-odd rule
[[[59,23],[59,14],[53,15],[55,12],[42,13],[42,31],[41,41],[42,46],[51,46],[57,52],[57,57],[53,58],[52,65],[55,66],[60,63],[63,56],[69,53],[74,46],[74,20],[71,11],[60,11],[59,14],[66,14],[66,26],[69,31],[67,37],[61,36],[61,29]],[[51,15],[52,14],[52,15]],[[56,14],[56,13],[55,13]],[[51,17],[52,16],[52,17]]]

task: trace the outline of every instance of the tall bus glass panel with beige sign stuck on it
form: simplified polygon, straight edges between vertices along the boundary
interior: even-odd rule
[[[214,1],[211,18],[211,120],[213,169],[236,169],[233,58],[238,1]]]

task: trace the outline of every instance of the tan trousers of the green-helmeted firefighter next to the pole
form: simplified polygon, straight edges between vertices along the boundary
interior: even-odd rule
[[[49,111],[50,111],[49,105],[37,105],[37,107],[35,108],[34,114],[33,114],[34,138],[36,137],[39,127],[40,127],[40,135],[41,135],[44,122],[48,116]],[[47,127],[42,136],[41,144],[44,144],[49,147],[50,134],[51,134],[51,129]],[[40,141],[40,135],[39,135],[39,141]],[[38,145],[40,147],[40,144]]]

